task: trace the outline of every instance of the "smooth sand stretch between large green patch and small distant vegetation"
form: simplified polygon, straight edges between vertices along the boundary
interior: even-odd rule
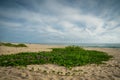
[[[39,52],[39,51],[51,51],[50,48],[64,47],[57,45],[41,45],[41,44],[26,44],[28,47],[6,47],[0,46],[1,54],[15,54],[19,52]]]

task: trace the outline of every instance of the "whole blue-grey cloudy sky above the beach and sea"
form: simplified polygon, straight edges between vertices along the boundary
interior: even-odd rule
[[[0,41],[120,43],[120,0],[0,0]]]

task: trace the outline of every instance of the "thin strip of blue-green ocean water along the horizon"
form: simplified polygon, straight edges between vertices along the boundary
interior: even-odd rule
[[[40,43],[47,45],[77,45],[81,47],[120,48],[120,43]]]

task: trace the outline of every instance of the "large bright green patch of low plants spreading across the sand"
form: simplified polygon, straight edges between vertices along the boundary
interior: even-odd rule
[[[19,54],[1,55],[0,66],[27,66],[30,64],[56,64],[65,67],[86,64],[101,64],[112,56],[104,52],[84,50],[78,46],[53,48],[51,52],[22,52]]]

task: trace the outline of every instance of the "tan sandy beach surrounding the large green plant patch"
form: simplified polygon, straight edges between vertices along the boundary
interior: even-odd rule
[[[51,51],[59,45],[26,44],[28,47],[0,46],[0,55],[19,52]],[[120,80],[120,48],[85,48],[107,52],[113,58],[105,64],[77,66],[66,69],[63,66],[44,64],[27,67],[0,67],[0,80]]]

